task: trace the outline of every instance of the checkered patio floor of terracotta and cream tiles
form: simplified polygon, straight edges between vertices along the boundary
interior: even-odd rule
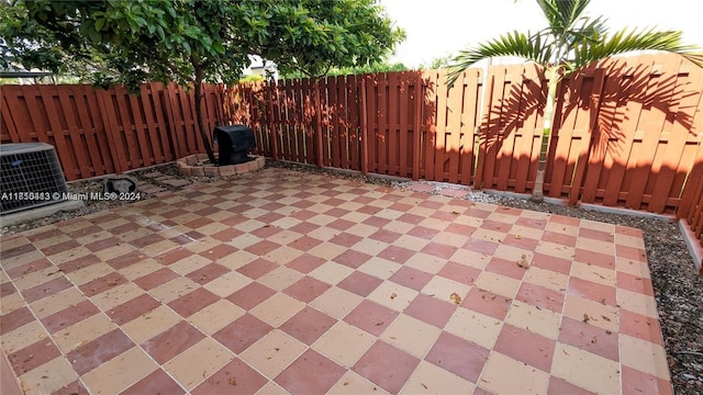
[[[632,228],[265,169],[1,246],[32,394],[671,393]]]

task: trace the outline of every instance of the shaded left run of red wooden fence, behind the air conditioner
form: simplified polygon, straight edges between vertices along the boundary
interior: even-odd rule
[[[56,147],[66,178],[79,180],[166,163],[203,151],[193,94],[176,84],[143,84],[140,94],[114,87],[3,86],[1,143]],[[222,97],[204,87],[210,131],[222,119]]]

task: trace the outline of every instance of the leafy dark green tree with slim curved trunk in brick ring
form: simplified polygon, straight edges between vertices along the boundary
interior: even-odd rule
[[[198,99],[204,81],[236,82],[249,55],[320,76],[377,61],[403,37],[372,0],[0,0],[0,67],[176,81]],[[196,111],[203,132],[200,100]]]

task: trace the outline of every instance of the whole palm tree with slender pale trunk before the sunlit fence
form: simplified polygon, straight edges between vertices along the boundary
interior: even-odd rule
[[[479,60],[516,56],[540,66],[542,80],[548,81],[544,128],[537,163],[537,177],[532,200],[544,200],[544,179],[549,137],[554,123],[557,84],[570,74],[613,55],[633,50],[665,50],[687,57],[703,67],[703,55],[696,48],[681,43],[681,32],[657,32],[652,29],[624,29],[612,35],[605,29],[603,16],[590,19],[584,11],[590,0],[537,0],[548,26],[532,34],[517,31],[461,50],[454,58],[448,76],[449,88],[457,78]]]

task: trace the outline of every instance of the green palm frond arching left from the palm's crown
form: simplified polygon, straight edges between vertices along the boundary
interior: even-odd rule
[[[449,65],[448,86],[451,88],[461,72],[477,61],[500,57],[516,56],[545,66],[551,55],[551,45],[542,33],[531,35],[521,32],[503,34],[498,38],[479,44],[476,48],[461,50]]]

